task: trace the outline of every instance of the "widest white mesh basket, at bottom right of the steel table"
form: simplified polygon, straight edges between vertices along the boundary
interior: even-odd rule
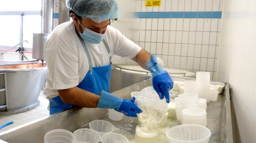
[[[185,124],[168,129],[165,135],[170,143],[208,143],[211,132],[201,125]]]

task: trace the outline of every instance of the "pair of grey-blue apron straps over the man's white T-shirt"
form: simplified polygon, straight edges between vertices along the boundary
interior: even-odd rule
[[[82,39],[82,37],[80,36],[80,35],[78,35],[77,34],[77,32],[76,32],[76,35],[78,36],[78,38],[79,38],[79,40],[80,40],[80,42],[81,42],[81,44],[82,44],[82,46],[83,46],[83,48],[84,48],[84,51],[85,51],[85,53],[86,53],[86,56],[87,56],[87,59],[88,59],[88,62],[89,62],[89,70],[90,70],[90,72],[91,72],[91,74],[93,73],[93,66],[92,66],[92,63],[91,63],[91,59],[90,59],[90,56],[89,56],[89,54],[88,54],[88,50],[87,50],[87,48],[86,48],[86,45],[85,45],[85,43],[84,43],[84,40]],[[107,51],[108,51],[108,55],[109,55],[109,61],[110,61],[110,63],[111,63],[111,52],[110,52],[110,50],[109,50],[109,47],[108,47],[108,45],[107,45],[107,43],[106,43],[106,41],[103,39],[102,40],[102,42],[103,42],[103,44],[104,44],[104,46],[106,47],[106,49],[107,49]]]

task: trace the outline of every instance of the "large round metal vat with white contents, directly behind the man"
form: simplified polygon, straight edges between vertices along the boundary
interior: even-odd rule
[[[170,76],[196,77],[195,71],[163,67]],[[116,64],[112,66],[110,92],[134,85],[152,78],[150,71],[142,69],[135,64]]]

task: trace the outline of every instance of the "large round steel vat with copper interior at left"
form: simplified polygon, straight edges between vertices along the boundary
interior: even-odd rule
[[[46,64],[0,66],[0,115],[20,113],[35,108],[46,81]],[[6,79],[5,79],[6,78]],[[7,96],[6,96],[7,95]]]

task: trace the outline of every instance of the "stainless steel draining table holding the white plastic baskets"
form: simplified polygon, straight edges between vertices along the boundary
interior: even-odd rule
[[[185,78],[184,79],[191,79]],[[112,92],[121,98],[130,99],[132,91],[140,91],[144,87],[152,86],[152,79],[142,81],[138,84],[125,87]],[[226,83],[224,93],[218,96],[218,101],[207,104],[206,126],[211,131],[209,143],[232,143],[232,126],[229,102],[229,85]],[[108,118],[107,109],[101,108],[71,108],[60,113],[53,114],[47,118],[25,124],[21,127],[13,128],[0,134],[0,139],[8,143],[26,142],[43,143],[44,135],[53,129],[66,129],[71,132],[79,128],[89,128],[88,124],[95,119],[103,119],[111,122],[116,128],[114,132],[125,135],[130,143],[133,143],[136,124],[131,117],[124,117],[121,121],[113,121]],[[165,131],[176,126],[175,118],[169,118],[165,127],[160,128],[159,143],[168,142]],[[0,140],[0,142],[1,142]]]

